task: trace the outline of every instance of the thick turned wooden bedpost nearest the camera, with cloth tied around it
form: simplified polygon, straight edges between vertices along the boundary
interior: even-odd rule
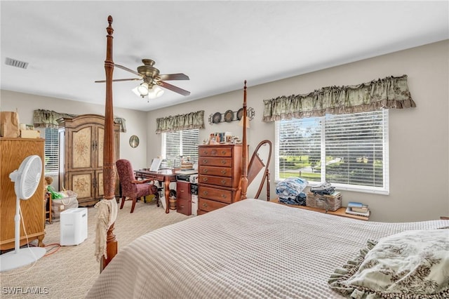
[[[114,61],[112,60],[112,16],[107,18],[109,26],[107,27],[107,48],[105,60],[106,72],[106,100],[105,100],[105,140],[103,143],[103,190],[105,199],[115,199],[115,140],[114,140],[114,108],[112,102],[112,73],[114,72]],[[114,223],[107,231],[106,251],[107,258],[103,257],[100,263],[100,272],[105,269],[107,264],[117,254],[117,241],[114,231]]]

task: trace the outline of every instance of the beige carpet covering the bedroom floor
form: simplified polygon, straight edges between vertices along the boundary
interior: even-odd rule
[[[154,201],[147,204],[138,201],[132,214],[130,207],[131,202],[126,201],[117,215],[114,234],[119,251],[142,234],[193,217],[171,210],[166,214],[162,205],[158,208]],[[96,208],[88,208],[88,239],[77,246],[58,249],[59,222],[46,224],[43,241],[47,254],[34,265],[2,272],[0,298],[84,298],[100,274],[94,256],[96,213]]]

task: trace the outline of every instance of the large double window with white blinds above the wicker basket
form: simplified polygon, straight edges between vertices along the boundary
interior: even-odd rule
[[[389,192],[388,109],[276,121],[276,180]]]

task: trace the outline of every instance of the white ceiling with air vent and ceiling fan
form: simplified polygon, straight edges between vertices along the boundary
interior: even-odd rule
[[[184,73],[156,100],[114,82],[114,106],[149,111],[449,39],[448,1],[1,1],[1,89],[103,105],[114,62]],[[27,69],[6,58],[29,62]],[[114,79],[133,78],[114,69]]]

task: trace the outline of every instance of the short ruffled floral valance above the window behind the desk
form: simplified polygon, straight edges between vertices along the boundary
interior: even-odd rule
[[[204,128],[204,110],[156,119],[156,133]]]

